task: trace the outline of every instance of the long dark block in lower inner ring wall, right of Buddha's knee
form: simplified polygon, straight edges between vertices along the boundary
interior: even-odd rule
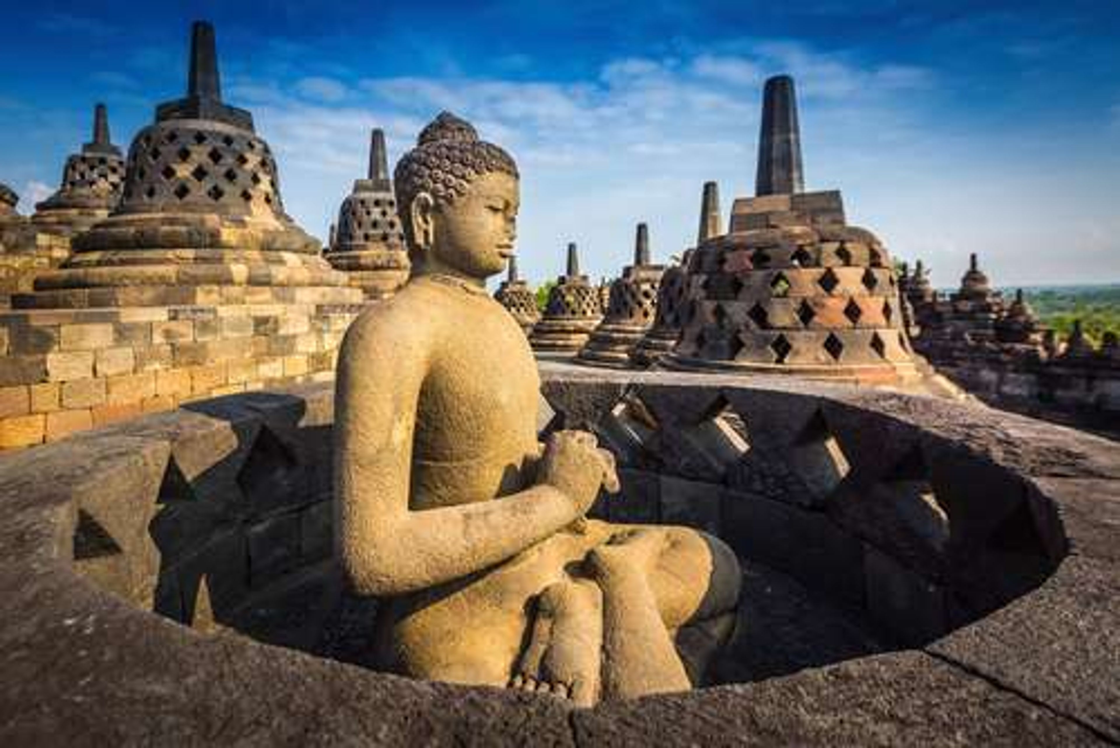
[[[720,537],[741,558],[842,604],[864,605],[864,543],[820,512],[727,490]]]

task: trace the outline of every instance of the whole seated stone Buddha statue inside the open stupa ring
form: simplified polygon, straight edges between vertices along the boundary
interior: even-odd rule
[[[735,624],[719,540],[587,514],[618,489],[592,434],[538,442],[540,381],[485,280],[513,256],[519,175],[448,113],[395,170],[409,282],[338,363],[336,543],[376,596],[379,665],[592,705],[691,688]]]

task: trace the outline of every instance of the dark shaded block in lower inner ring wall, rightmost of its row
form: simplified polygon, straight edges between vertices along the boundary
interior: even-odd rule
[[[864,573],[867,608],[896,642],[917,647],[945,633],[942,588],[871,545],[865,545]]]

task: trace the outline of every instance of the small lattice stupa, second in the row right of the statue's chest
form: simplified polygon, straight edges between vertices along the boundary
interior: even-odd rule
[[[549,290],[544,315],[529,338],[533,350],[576,353],[603,319],[599,290],[579,272],[575,242],[568,244],[568,267]]]

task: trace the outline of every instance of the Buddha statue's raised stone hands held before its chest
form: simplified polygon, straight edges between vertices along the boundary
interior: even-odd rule
[[[587,431],[557,431],[544,446],[538,483],[552,486],[576,505],[577,516],[591,508],[599,488],[618,490],[615,457]]]

